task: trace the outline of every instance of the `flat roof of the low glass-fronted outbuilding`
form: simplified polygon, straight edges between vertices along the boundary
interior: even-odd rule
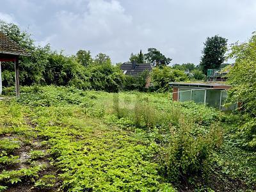
[[[182,88],[212,88],[212,89],[219,89],[219,90],[227,90],[230,88],[227,84],[221,84],[221,83],[169,83],[172,87],[182,87]]]

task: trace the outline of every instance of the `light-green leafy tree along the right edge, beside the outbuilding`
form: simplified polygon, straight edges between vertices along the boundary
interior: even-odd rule
[[[256,34],[243,44],[234,44],[229,57],[235,59],[234,67],[228,73],[228,90],[230,102],[241,102],[241,111],[248,114],[237,135],[244,147],[256,149]],[[252,119],[250,119],[252,118]]]

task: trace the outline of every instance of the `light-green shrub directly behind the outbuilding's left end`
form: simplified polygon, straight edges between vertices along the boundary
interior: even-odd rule
[[[152,71],[152,83],[157,92],[168,92],[171,90],[170,82],[187,81],[186,74],[171,67],[155,67]]]

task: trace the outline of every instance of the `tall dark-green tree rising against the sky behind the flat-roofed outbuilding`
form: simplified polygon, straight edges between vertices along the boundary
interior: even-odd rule
[[[204,74],[207,74],[207,69],[209,68],[220,68],[221,63],[225,61],[227,41],[227,38],[218,35],[207,37],[200,62],[200,67]]]

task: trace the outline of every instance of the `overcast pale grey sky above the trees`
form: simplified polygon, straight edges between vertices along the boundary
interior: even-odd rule
[[[156,47],[172,65],[197,65],[207,36],[220,35],[232,44],[256,31],[256,1],[0,0],[0,19],[66,54],[104,52],[117,63]]]

